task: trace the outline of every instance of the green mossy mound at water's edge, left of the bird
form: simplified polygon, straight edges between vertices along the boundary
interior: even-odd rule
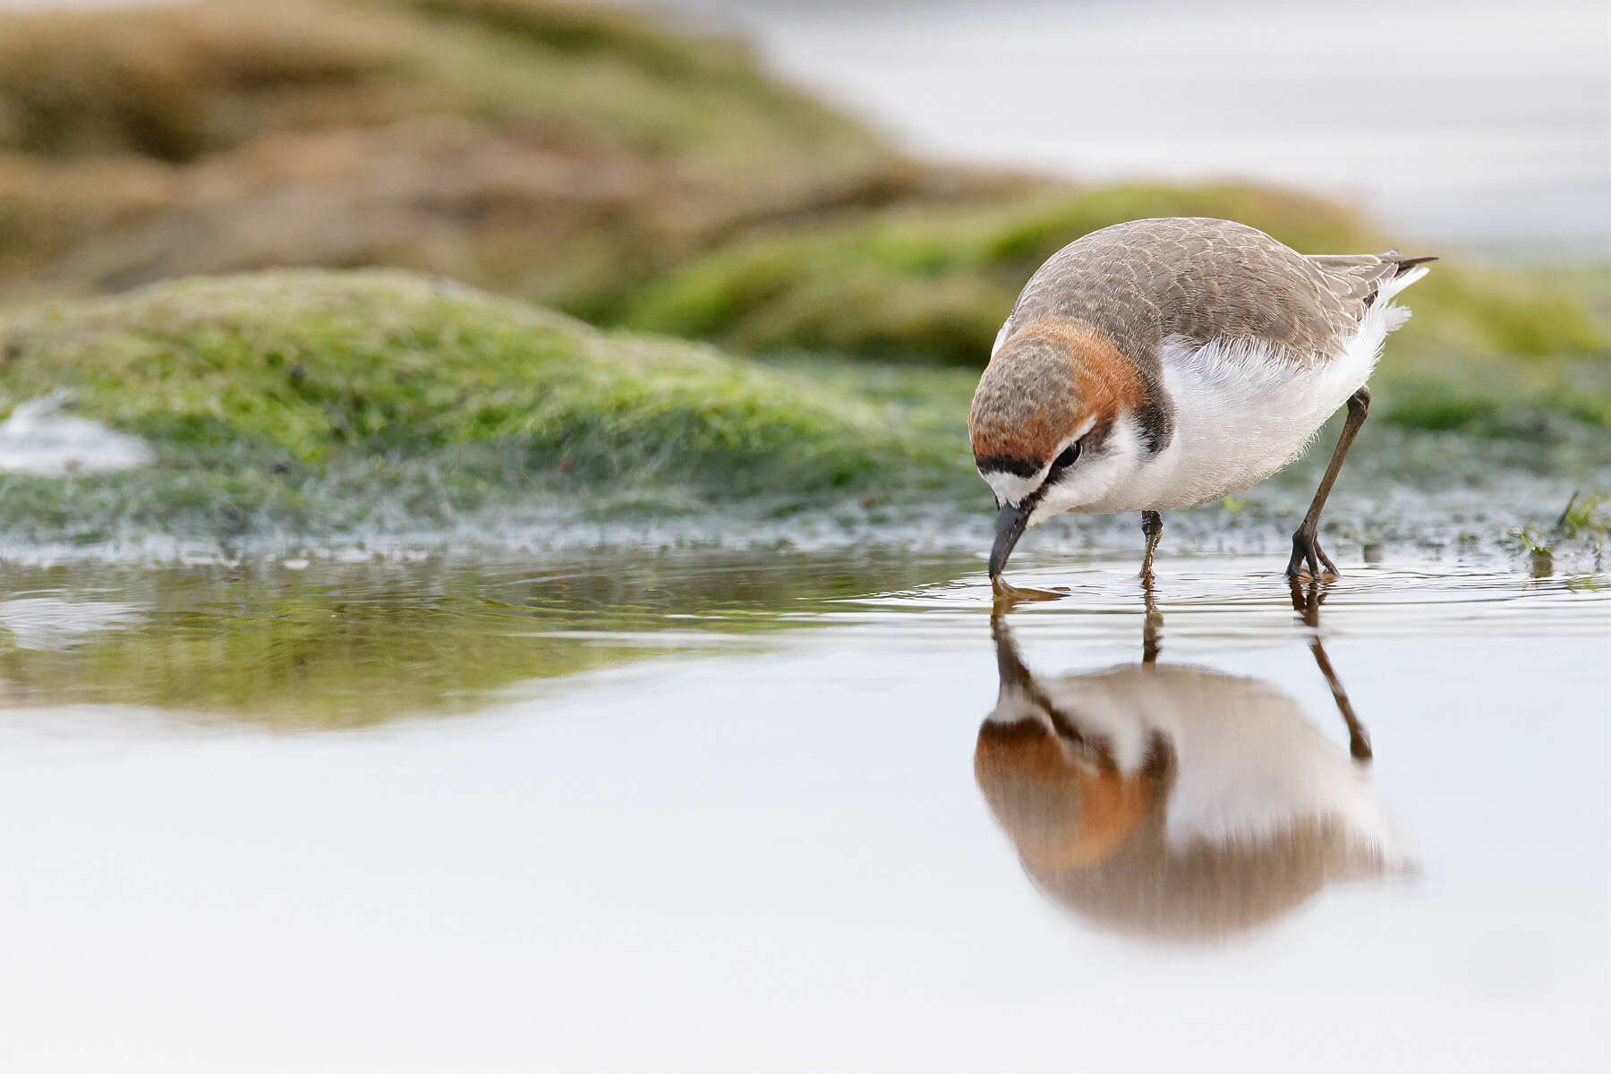
[[[491,502],[598,510],[933,488],[962,462],[894,404],[707,346],[606,333],[396,272],[161,283],[0,319],[0,412],[66,390],[156,465],[8,475],[14,536],[429,528]]]

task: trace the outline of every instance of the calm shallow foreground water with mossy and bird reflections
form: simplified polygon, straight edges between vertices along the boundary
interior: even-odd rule
[[[1605,1069],[1608,578],[1278,559],[3,568],[0,1066]]]

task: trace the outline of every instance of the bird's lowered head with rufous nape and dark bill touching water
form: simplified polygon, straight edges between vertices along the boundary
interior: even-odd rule
[[[968,436],[996,493],[991,578],[1025,528],[1099,504],[1137,465],[1147,386],[1134,362],[1079,320],[1008,335],[979,377]]]

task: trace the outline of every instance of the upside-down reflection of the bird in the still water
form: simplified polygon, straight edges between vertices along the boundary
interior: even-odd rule
[[[1403,868],[1366,766],[1269,684],[1150,662],[1042,680],[1000,615],[992,633],[975,775],[1029,876],[1079,916],[1211,939]]]

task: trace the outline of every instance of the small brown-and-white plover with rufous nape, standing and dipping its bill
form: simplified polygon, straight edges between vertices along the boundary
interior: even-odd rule
[[[1387,333],[1410,317],[1392,299],[1431,261],[1300,254],[1210,217],[1129,221],[1058,250],[1013,303],[968,409],[975,467],[997,504],[992,583],[1031,525],[1139,510],[1152,585],[1160,512],[1263,481],[1347,406],[1286,572],[1340,573],[1319,515]]]

